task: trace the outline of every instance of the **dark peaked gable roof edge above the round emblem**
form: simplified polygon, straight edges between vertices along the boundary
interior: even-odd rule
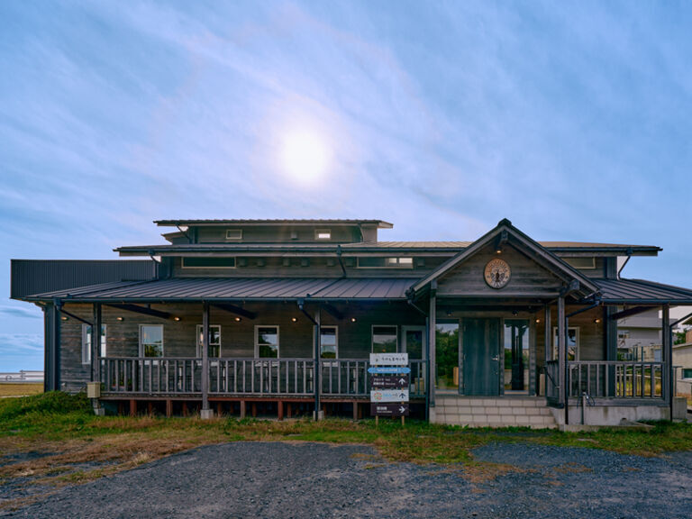
[[[487,232],[478,238],[477,241],[474,241],[465,250],[462,250],[456,256],[445,261],[440,267],[432,270],[432,272],[425,278],[415,283],[414,286],[411,287],[412,291],[418,292],[422,290],[423,287],[426,287],[432,282],[432,280],[441,278],[461,262],[474,256],[479,250],[483,249],[493,241],[496,241],[496,239],[504,236],[504,233],[506,233],[507,239],[509,236],[513,236],[526,250],[532,254],[533,260],[541,264],[543,267],[550,269],[551,272],[553,272],[559,278],[562,278],[568,282],[574,279],[578,280],[580,286],[578,291],[583,295],[588,296],[598,291],[598,287],[594,285],[591,279],[578,272],[577,269],[570,267],[566,262],[553,254],[550,250],[545,249],[545,247],[543,247],[537,241],[533,241],[529,236],[524,234],[524,232],[519,231],[516,227],[514,227],[514,225],[512,225],[512,222],[506,218],[497,223],[495,229],[492,229],[490,232]]]

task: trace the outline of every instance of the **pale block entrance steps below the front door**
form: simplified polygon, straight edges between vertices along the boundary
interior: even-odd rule
[[[436,396],[433,423],[469,427],[558,426],[542,396]]]

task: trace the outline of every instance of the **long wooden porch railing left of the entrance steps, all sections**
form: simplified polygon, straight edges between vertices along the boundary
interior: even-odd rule
[[[102,358],[100,375],[106,394],[201,394],[202,359]],[[312,359],[209,359],[210,395],[313,396]],[[425,361],[409,363],[410,397],[424,398]],[[369,361],[320,360],[320,394],[369,396]]]

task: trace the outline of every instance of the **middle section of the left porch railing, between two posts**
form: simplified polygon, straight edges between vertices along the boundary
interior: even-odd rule
[[[314,360],[210,359],[209,393],[313,395]]]

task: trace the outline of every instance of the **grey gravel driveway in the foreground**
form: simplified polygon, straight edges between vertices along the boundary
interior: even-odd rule
[[[493,444],[478,460],[516,470],[462,472],[387,463],[369,447],[234,442],[66,487],[9,517],[685,517],[692,453],[664,458]]]

